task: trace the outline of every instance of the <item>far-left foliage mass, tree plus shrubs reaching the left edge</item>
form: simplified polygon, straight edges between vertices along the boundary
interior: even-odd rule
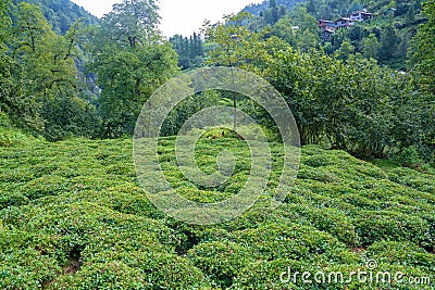
[[[13,22],[4,30],[9,49],[0,55],[2,111],[13,125],[51,140],[89,136],[92,109],[80,98],[75,62],[82,23],[61,36],[37,7],[22,2],[10,9]]]

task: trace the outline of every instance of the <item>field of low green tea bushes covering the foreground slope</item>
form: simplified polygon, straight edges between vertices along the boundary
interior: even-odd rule
[[[210,143],[215,147],[208,151]],[[196,189],[173,168],[170,138],[159,150],[167,179],[197,200],[237,192],[249,168],[246,144],[234,139],[202,144],[204,171],[215,166],[210,156],[216,149],[231,144],[240,153],[236,178],[215,191]],[[364,270],[370,259],[378,269],[435,282],[430,173],[385,172],[341,151],[306,147],[283,206],[263,209],[264,197],[239,218],[200,227],[172,220],[149,203],[136,181],[130,140],[33,141],[0,148],[0,155],[1,289],[345,289],[285,285],[279,275],[289,266]]]

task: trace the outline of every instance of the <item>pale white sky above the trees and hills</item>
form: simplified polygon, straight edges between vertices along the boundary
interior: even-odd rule
[[[101,17],[112,10],[119,0],[72,0],[91,14]],[[199,31],[204,20],[217,22],[224,14],[237,13],[246,5],[261,0],[160,0],[160,29],[171,37],[175,34],[189,36]]]

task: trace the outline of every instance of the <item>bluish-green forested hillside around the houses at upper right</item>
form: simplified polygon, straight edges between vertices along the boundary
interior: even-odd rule
[[[421,14],[422,0],[412,1],[264,1],[244,11],[256,15],[250,25],[253,30],[268,30],[293,47],[307,51],[323,49],[327,54],[348,55],[361,53],[393,68],[409,70],[411,39],[419,24],[425,22]],[[318,20],[335,22],[349,17],[352,12],[368,11],[373,18],[357,22],[322,38]],[[294,27],[294,28],[291,28]]]

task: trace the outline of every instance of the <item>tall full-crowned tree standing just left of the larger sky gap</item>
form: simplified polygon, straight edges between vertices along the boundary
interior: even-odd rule
[[[124,0],[90,31],[103,137],[132,135],[145,102],[177,72],[176,53],[156,28],[157,9],[154,1]]]

